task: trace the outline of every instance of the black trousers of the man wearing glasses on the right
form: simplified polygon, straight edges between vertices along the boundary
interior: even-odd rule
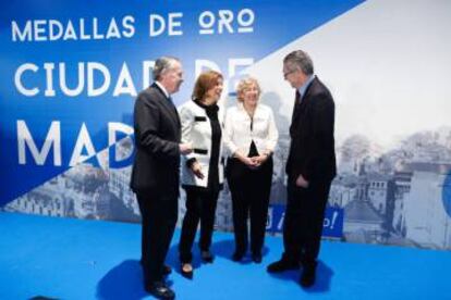
[[[295,185],[295,178],[289,178],[283,223],[284,259],[301,261],[307,267],[316,266],[330,184],[331,180],[312,180],[308,188],[301,188]]]

